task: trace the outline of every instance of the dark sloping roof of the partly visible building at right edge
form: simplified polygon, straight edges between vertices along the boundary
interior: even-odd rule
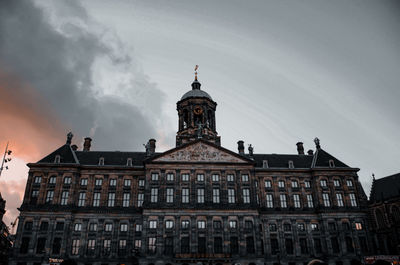
[[[400,173],[374,179],[371,188],[371,201],[384,201],[394,197],[400,197]]]

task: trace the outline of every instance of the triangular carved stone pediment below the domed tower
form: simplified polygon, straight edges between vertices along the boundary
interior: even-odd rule
[[[222,147],[199,141],[182,148],[175,148],[161,154],[153,162],[209,162],[209,163],[250,163]]]

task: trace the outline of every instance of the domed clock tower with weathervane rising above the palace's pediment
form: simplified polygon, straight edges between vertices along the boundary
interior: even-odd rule
[[[179,128],[176,134],[176,146],[204,139],[221,145],[215,126],[215,110],[217,103],[211,96],[200,89],[197,72],[192,83],[192,90],[186,92],[177,103]]]

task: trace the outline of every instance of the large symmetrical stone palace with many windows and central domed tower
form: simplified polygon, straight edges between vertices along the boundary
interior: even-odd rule
[[[357,264],[371,248],[359,169],[318,139],[306,154],[223,148],[200,86],[177,103],[171,150],[78,150],[68,134],[28,164],[11,264]]]

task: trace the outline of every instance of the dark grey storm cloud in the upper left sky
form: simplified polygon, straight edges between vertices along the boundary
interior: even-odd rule
[[[29,105],[36,118],[61,124],[59,133],[92,134],[96,149],[138,149],[156,137],[148,120],[159,116],[162,92],[137,70],[115,35],[91,21],[82,6],[54,3],[62,7],[46,10],[31,1],[0,2],[0,73],[24,84],[3,83],[0,97],[11,90],[10,103],[21,111]],[[51,23],[52,15],[57,24]],[[121,71],[124,82],[121,76],[101,76],[106,74],[102,65]],[[100,69],[96,79],[95,69]],[[115,82],[114,91],[120,93],[104,92],[98,87],[100,78],[110,79],[111,86]],[[64,135],[59,137],[64,141]]]

